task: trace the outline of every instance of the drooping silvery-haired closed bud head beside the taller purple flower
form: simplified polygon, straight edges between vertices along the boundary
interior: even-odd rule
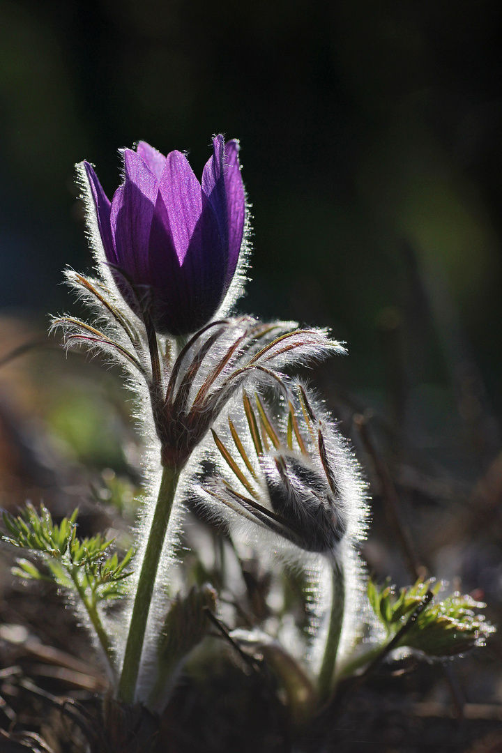
[[[256,413],[244,392],[236,423],[229,416],[228,427],[221,421],[212,432],[225,463],[200,487],[201,498],[231,530],[241,529],[241,518],[272,532],[275,547],[282,540],[297,553],[336,559],[342,542],[349,545],[364,532],[364,485],[341,437],[327,416],[314,413],[302,386],[296,407],[292,400],[289,393],[285,415],[274,422],[260,396]],[[291,553],[288,544],[285,550]]]

